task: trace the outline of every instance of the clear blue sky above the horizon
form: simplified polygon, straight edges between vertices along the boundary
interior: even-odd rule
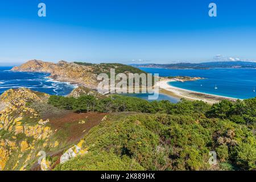
[[[46,3],[47,17],[38,16]],[[210,2],[217,17],[208,16]],[[254,0],[9,0],[0,2],[0,65],[256,60]]]

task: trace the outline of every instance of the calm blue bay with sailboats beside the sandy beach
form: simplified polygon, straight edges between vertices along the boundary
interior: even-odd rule
[[[254,98],[256,92],[256,69],[214,68],[214,69],[162,69],[140,68],[159,76],[204,77],[204,80],[169,82],[172,86],[201,93],[215,94],[233,98]],[[214,89],[215,86],[217,89]]]

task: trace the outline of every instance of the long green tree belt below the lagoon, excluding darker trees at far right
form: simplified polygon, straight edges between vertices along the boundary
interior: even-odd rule
[[[93,96],[81,96],[79,98],[51,96],[48,103],[60,109],[103,113],[135,111],[141,113],[192,114],[205,113],[210,109],[210,106],[202,101],[182,100],[178,104],[172,104],[169,101],[148,102],[140,98],[120,95],[113,95],[100,100]]]

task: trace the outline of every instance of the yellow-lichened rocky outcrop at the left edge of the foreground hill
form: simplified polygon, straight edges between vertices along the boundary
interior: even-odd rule
[[[0,96],[0,170],[26,170],[52,130],[38,125],[38,112],[31,103],[43,103],[48,94],[30,89],[10,89]],[[9,162],[9,159],[12,162]]]

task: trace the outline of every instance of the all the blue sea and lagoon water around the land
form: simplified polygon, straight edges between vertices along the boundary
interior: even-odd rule
[[[77,85],[53,81],[48,73],[11,72],[11,67],[0,67],[0,94],[10,88],[26,87],[39,92],[65,96]],[[172,86],[196,92],[216,94],[234,98],[256,97],[256,69],[162,69],[140,68],[148,73],[159,73],[160,76],[204,77],[204,80],[187,82],[170,82]],[[218,89],[214,89],[215,86]],[[147,94],[129,94],[147,99]],[[159,94],[158,100],[178,102],[174,97]]]

